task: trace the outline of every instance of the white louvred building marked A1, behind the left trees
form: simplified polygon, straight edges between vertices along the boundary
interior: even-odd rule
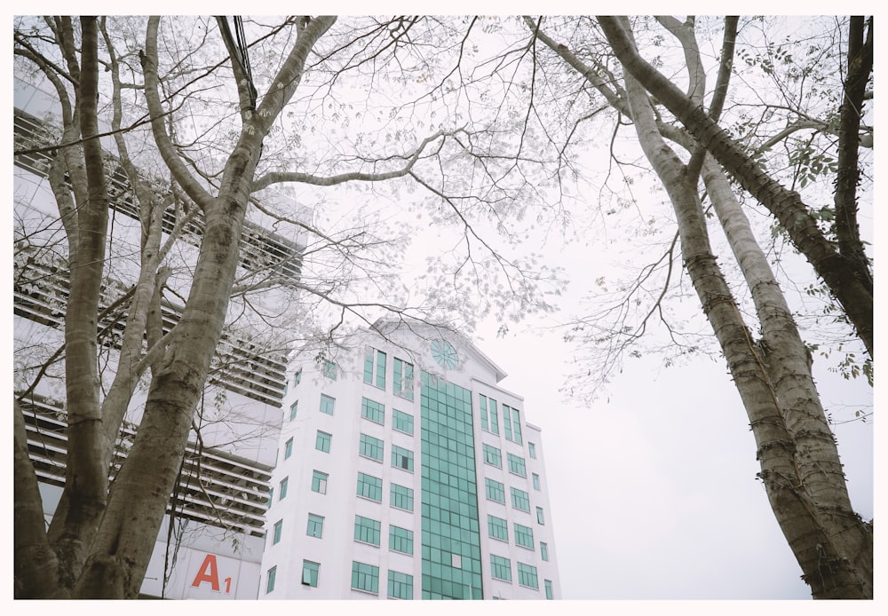
[[[18,147],[52,143],[54,131],[45,118],[58,107],[50,92],[15,79],[14,127]],[[34,148],[37,149],[37,148]],[[68,277],[66,247],[59,209],[47,179],[48,154],[15,157],[13,176],[15,280],[13,337],[16,391],[28,431],[47,521],[52,518],[65,481],[67,422],[62,370],[52,355],[64,342]],[[112,167],[113,169],[113,167]],[[139,211],[119,170],[109,174],[111,233],[102,308],[134,280],[131,254],[139,254]],[[170,209],[163,220],[169,233],[175,224]],[[186,272],[196,258],[202,219],[194,217],[177,242],[173,257]],[[242,272],[274,271],[298,280],[302,248],[296,242],[248,223],[242,247]],[[189,280],[179,280],[186,295]],[[178,320],[180,306],[164,302],[165,331]],[[115,366],[116,337],[125,311],[100,321],[102,375]],[[167,598],[255,599],[258,594],[263,525],[274,467],[281,400],[286,388],[287,349],[258,348],[255,336],[227,331],[214,358],[204,399],[195,420],[200,429],[188,444],[168,513],[155,543],[141,587],[143,596]],[[49,369],[38,369],[49,361]],[[36,382],[36,386],[32,384]],[[136,392],[131,414],[118,438],[119,463],[138,428],[145,392]],[[113,470],[112,470],[113,472]]]

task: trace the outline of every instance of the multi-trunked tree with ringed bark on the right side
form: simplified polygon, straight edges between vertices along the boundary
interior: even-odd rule
[[[757,459],[762,468],[759,478],[813,596],[871,598],[871,522],[862,520],[852,509],[836,441],[811,376],[811,352],[799,335],[794,315],[728,174],[772,212],[777,225],[838,298],[871,352],[872,278],[860,242],[856,193],[850,188],[856,179],[837,185],[835,213],[844,221],[841,229],[836,225],[835,233],[845,240],[835,248],[818,224],[816,212],[821,209],[805,205],[797,193],[784,189],[753,161],[746,148],[719,127],[732,75],[736,18],[725,19],[718,81],[708,108],[704,105],[707,72],[694,35],[693,18],[683,22],[656,18],[665,33],[658,34],[661,43],[662,36],[678,39],[678,49],[684,56],[684,91],[641,59],[640,43],[635,42],[626,18],[599,17],[597,22],[569,19],[563,20],[561,28],[549,28],[546,20],[524,21],[532,44],[542,43],[573,70],[577,79],[593,89],[598,95],[595,99],[603,99],[630,120],[646,161],[668,194],[684,269],[727,359],[757,439]],[[856,152],[860,143],[860,109],[868,79],[864,75],[869,74],[870,66],[867,44],[862,42],[862,22],[852,22],[846,80],[849,93],[841,103],[847,123],[843,123],[835,145],[843,161],[839,163],[840,178],[859,177],[857,159],[849,151]],[[599,27],[607,40],[597,36]],[[567,43],[559,40],[559,35],[565,36]],[[610,61],[612,54],[616,63]],[[542,59],[542,51],[540,56]],[[670,61],[669,66],[674,68],[680,60],[673,56]],[[673,122],[662,106],[678,122]],[[856,121],[852,122],[850,116]],[[679,154],[682,149],[685,152]],[[701,179],[703,193],[698,186]],[[718,217],[751,298],[755,315],[751,327],[733,291],[738,282],[727,280],[717,263],[724,263],[727,257],[712,249],[704,200],[710,201]],[[651,265],[645,275],[657,268],[670,271],[673,248],[664,251],[661,261]],[[643,283],[639,279],[629,295],[637,293]],[[626,328],[630,336],[614,328],[614,338],[640,335],[646,319],[655,310],[662,310],[660,304],[669,286],[667,274],[663,291],[653,294],[654,308],[646,313],[641,325]],[[604,329],[607,332],[607,327]],[[758,334],[754,335],[756,330]],[[582,333],[579,340],[594,344]]]

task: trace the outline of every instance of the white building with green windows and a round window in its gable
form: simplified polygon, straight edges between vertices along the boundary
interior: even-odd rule
[[[422,323],[350,348],[291,363],[259,598],[559,597],[541,433],[503,370]]]

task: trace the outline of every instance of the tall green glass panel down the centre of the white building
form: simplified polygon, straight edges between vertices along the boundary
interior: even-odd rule
[[[480,599],[472,392],[421,374],[424,599]]]

